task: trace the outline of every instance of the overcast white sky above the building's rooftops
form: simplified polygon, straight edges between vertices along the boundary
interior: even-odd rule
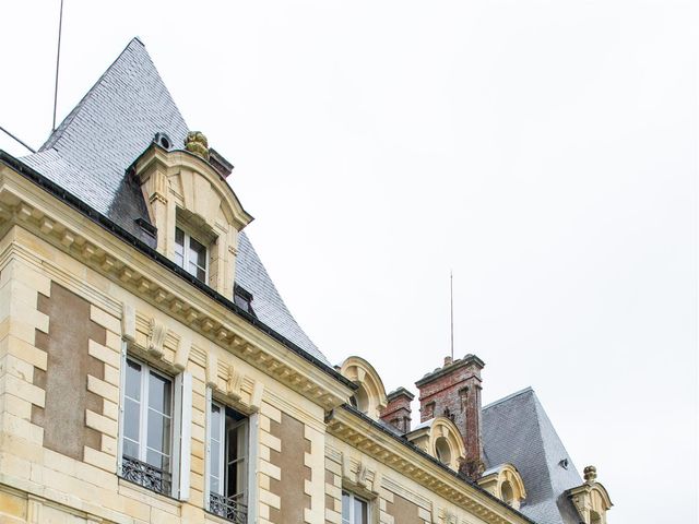
[[[612,523],[697,522],[694,2],[64,1],[59,120],[140,36],[332,361],[415,391],[453,269],[485,402],[532,385]],[[35,147],[58,5],[0,10],[0,126]]]

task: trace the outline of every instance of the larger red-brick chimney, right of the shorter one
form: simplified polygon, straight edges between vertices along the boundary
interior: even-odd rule
[[[484,472],[481,441],[481,370],[484,366],[475,355],[453,361],[447,357],[442,368],[415,382],[419,390],[420,422],[447,417],[457,425],[466,449],[459,473],[474,480]]]

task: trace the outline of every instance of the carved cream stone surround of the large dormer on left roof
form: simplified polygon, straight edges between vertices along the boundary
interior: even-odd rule
[[[206,160],[202,150],[206,141],[199,135],[188,143],[188,150],[196,145],[197,152],[168,151],[162,140],[154,141],[135,160],[132,171],[157,229],[156,249],[173,261],[179,260],[183,246],[178,243],[176,230],[183,231],[196,240],[200,251],[202,247],[206,250],[206,264],[199,264],[205,271],[190,273],[233,298],[238,234],[252,216],[242,209],[221,171]],[[183,260],[180,265],[185,265]]]

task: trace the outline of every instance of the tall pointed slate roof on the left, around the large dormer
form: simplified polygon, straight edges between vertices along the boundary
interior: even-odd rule
[[[134,38],[40,150],[22,162],[154,247],[154,239],[134,222],[150,218],[141,190],[126,169],[155,133],[167,133],[176,146],[183,146],[188,130],[145,47]],[[288,311],[245,233],[238,248],[236,283],[252,294],[258,319],[330,366]]]

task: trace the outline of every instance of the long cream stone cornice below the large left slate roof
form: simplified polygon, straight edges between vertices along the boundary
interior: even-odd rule
[[[0,163],[0,229],[12,225],[69,253],[324,409],[352,394],[351,385]]]

